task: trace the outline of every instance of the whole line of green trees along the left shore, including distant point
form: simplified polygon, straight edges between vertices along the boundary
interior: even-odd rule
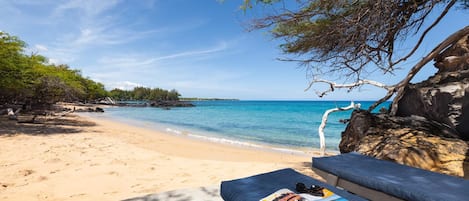
[[[0,105],[43,108],[61,102],[117,100],[178,101],[175,89],[136,87],[107,91],[102,83],[84,77],[66,64],[52,64],[16,36],[0,32]]]

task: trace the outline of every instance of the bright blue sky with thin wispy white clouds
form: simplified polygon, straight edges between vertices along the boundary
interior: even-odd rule
[[[320,99],[310,78],[284,57],[268,30],[246,31],[262,8],[244,12],[241,0],[2,0],[0,30],[28,44],[27,52],[67,64],[107,89],[176,89],[182,97],[242,100],[377,100],[383,89],[339,90]],[[394,84],[451,33],[467,26],[469,11],[453,9],[430,32]],[[411,39],[412,40],[412,39]],[[435,72],[425,67],[415,78]],[[329,77],[325,77],[329,78]],[[341,82],[340,78],[330,78]],[[370,78],[371,79],[371,78]],[[344,82],[344,81],[342,81]],[[317,86],[320,90],[324,86]]]

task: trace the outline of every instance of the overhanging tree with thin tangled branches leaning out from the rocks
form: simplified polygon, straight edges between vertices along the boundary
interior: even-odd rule
[[[257,0],[256,2],[274,6],[279,1]],[[280,7],[274,14],[254,20],[251,28],[269,28],[274,38],[282,39],[283,44],[280,47],[285,53],[293,56],[283,60],[297,61],[307,66],[313,76],[311,85],[317,82],[330,85],[330,90],[320,93],[321,95],[335,88],[353,89],[364,84],[372,84],[388,90],[388,94],[377,104],[388,100],[394,94],[397,94],[396,99],[399,99],[403,88],[424,64],[432,59],[444,60],[437,58],[438,55],[455,44],[459,38],[469,34],[469,27],[461,29],[417,63],[401,82],[386,86],[367,80],[367,74],[376,70],[393,73],[398,64],[415,54],[427,33],[451,9],[457,5],[460,9],[468,9],[468,0],[297,0],[295,2],[296,10]],[[244,8],[251,6],[251,1],[244,1]],[[430,15],[432,12],[437,13],[435,18]],[[398,51],[397,44],[405,41],[410,35],[415,35],[418,38],[417,42],[406,53]],[[323,74],[344,76],[353,83],[336,84],[321,79],[319,75]],[[397,102],[396,99],[394,103]],[[377,104],[372,105],[369,110]],[[393,110],[395,105],[391,108],[391,113]]]

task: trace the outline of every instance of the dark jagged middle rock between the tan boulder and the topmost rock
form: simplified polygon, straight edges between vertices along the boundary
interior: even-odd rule
[[[397,116],[418,115],[447,124],[469,140],[469,70],[439,72],[411,84],[398,102]]]

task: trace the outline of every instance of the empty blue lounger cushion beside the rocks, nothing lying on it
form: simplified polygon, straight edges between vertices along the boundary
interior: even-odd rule
[[[358,153],[313,158],[313,167],[404,200],[469,199],[469,180]]]

